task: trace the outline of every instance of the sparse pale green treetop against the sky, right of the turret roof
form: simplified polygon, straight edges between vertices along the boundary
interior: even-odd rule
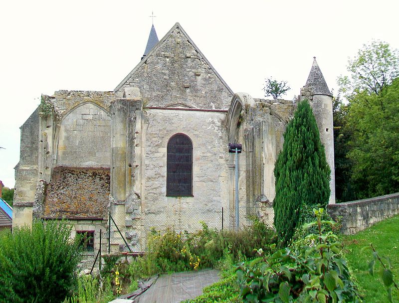
[[[380,93],[399,76],[398,50],[387,42],[374,40],[363,44],[354,58],[348,61],[350,76],[340,76],[338,84],[350,100],[354,94]]]

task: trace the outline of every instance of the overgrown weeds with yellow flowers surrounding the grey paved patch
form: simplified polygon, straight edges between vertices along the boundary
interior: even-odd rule
[[[117,256],[104,256],[105,266],[101,276],[103,287],[93,292],[98,280],[80,277],[74,295],[66,303],[103,303],[137,289],[137,280],[158,273],[219,268],[222,280],[205,288],[204,295],[190,302],[239,302],[234,265],[241,260],[253,258],[253,247],[263,247],[272,252],[275,247],[275,232],[257,218],[252,225],[240,231],[218,231],[209,229],[201,222],[202,229],[194,232],[176,232],[168,229],[164,233],[153,230],[148,238],[146,254],[130,264],[120,262]],[[97,283],[97,284],[96,284]],[[108,301],[107,301],[108,300]]]

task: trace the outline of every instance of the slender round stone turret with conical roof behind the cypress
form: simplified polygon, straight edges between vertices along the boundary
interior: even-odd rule
[[[330,200],[329,204],[335,204],[335,171],[334,171],[334,133],[333,133],[333,95],[328,89],[326,80],[313,57],[313,65],[308,80],[301,88],[300,99],[308,99],[316,118],[320,132],[320,140],[324,145],[327,162],[331,168]]]

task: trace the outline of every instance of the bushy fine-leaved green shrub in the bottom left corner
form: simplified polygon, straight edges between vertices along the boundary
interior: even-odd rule
[[[0,236],[0,302],[62,302],[75,283],[80,254],[71,226],[36,220]]]

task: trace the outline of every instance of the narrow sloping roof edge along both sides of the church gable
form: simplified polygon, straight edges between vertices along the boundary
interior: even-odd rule
[[[226,89],[229,91],[231,95],[233,95],[233,91],[231,88],[227,85],[226,82],[222,79],[222,77],[217,73],[217,71],[214,69],[214,67],[209,63],[209,61],[205,58],[205,56],[202,54],[200,49],[197,47],[197,45],[193,42],[193,40],[190,38],[190,36],[186,33],[186,31],[183,29],[183,27],[180,25],[179,22],[176,22],[176,24],[168,31],[168,33],[148,52],[148,54],[140,61],[139,64],[136,65],[136,67],[125,77],[125,79],[122,80],[121,83],[118,84],[118,86],[114,89],[114,92],[117,92],[119,89],[122,88],[122,86],[132,77],[132,75],[146,62],[148,57],[150,57],[159,47],[162,43],[165,42],[166,39],[169,38],[169,36],[172,34],[172,32],[175,29],[179,29],[182,34],[187,38],[187,40],[193,45],[195,50],[200,54],[200,57],[205,61],[205,63],[210,67],[210,69],[215,73],[217,78],[220,80],[220,82],[223,83],[223,85],[226,87]]]

